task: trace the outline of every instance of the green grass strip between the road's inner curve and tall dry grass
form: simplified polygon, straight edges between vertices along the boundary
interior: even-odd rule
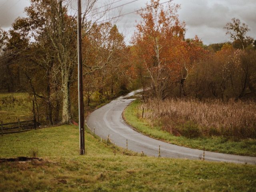
[[[220,136],[211,138],[186,138],[184,136],[174,136],[166,131],[163,131],[160,126],[150,126],[145,119],[137,117],[137,113],[139,112],[137,106],[139,104],[139,100],[132,102],[132,104],[125,109],[123,116],[128,124],[132,125],[143,134],[179,146],[186,146],[201,150],[205,147],[205,150],[207,151],[256,156],[255,139],[244,139],[235,142]]]

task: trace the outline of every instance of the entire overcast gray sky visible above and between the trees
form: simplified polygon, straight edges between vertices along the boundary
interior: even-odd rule
[[[76,4],[76,0],[73,0]],[[86,0],[82,0],[85,2]],[[109,2],[116,2],[112,7],[119,6],[133,0],[98,0],[98,7]],[[160,0],[165,2],[167,0]],[[149,0],[137,0],[122,7],[122,14],[145,7]],[[174,0],[181,4],[178,12],[181,21],[186,23],[186,38],[193,38],[198,35],[204,44],[228,41],[223,27],[231,18],[239,18],[248,24],[251,31],[248,35],[256,38],[256,0]],[[8,30],[18,16],[25,16],[24,7],[29,6],[29,0],[0,0],[0,27]],[[118,11],[116,10],[116,12]],[[140,20],[137,14],[128,14],[117,22],[119,30],[125,34],[126,42],[132,36],[136,20]]]

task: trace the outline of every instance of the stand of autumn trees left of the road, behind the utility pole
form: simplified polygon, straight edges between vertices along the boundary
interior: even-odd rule
[[[1,30],[1,90],[25,91],[36,104],[38,121],[70,123],[77,117],[77,29],[71,1],[31,0],[27,17]],[[84,95],[100,102],[127,92],[130,82],[124,36],[110,22],[92,21],[96,0],[82,15]],[[100,12],[100,18],[106,12]],[[22,51],[20,51],[22,50]]]

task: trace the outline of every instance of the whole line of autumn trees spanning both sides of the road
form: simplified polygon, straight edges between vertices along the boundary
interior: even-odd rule
[[[0,90],[28,92],[38,121],[69,123],[77,118],[77,30],[69,0],[31,0],[27,16],[0,29]],[[138,13],[130,45],[111,21],[100,22],[88,0],[82,15],[84,100],[102,103],[134,88],[142,96],[256,98],[256,41],[239,19],[226,24],[232,42],[206,46],[185,38],[180,5],[151,0]],[[167,6],[166,6],[167,5]],[[96,15],[96,16],[95,16]],[[95,18],[96,17],[96,18]]]

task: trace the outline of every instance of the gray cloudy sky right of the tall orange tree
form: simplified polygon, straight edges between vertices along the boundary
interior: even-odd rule
[[[256,38],[255,0],[175,0],[181,4],[180,19],[186,22],[186,37],[198,35],[205,44],[228,41],[223,27],[231,18],[239,18]]]

